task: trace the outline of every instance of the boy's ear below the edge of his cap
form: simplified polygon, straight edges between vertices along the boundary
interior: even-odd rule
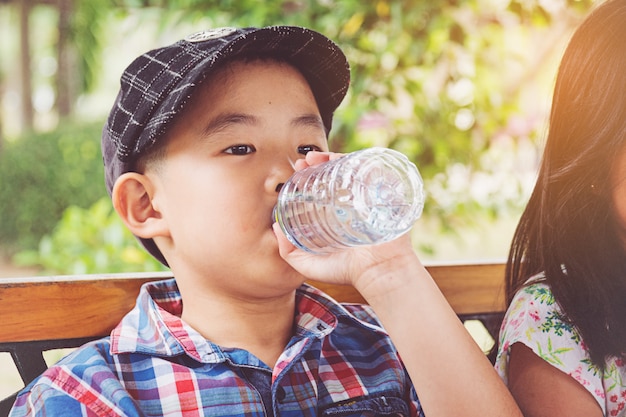
[[[150,178],[136,172],[122,174],[113,186],[113,207],[135,236],[149,239],[167,233],[167,224],[154,206],[153,197]]]

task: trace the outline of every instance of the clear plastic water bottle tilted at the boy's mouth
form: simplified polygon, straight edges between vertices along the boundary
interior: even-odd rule
[[[369,148],[294,173],[274,216],[294,246],[325,254],[393,240],[423,207],[415,164],[398,151]]]

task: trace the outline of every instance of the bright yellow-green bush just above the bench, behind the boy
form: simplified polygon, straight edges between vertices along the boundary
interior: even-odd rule
[[[38,250],[22,251],[14,260],[46,274],[165,270],[123,225],[108,197],[88,209],[69,207]]]

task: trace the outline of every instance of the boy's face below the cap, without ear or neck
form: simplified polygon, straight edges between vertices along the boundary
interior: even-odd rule
[[[179,280],[209,291],[293,289],[303,277],[278,254],[272,209],[293,162],[328,149],[313,93],[295,68],[266,60],[230,64],[200,88],[162,165],[146,171],[168,229],[156,240]]]

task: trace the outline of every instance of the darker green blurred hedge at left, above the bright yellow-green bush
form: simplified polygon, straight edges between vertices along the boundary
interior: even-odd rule
[[[106,195],[101,123],[65,124],[5,144],[0,154],[0,236],[5,249],[35,248],[70,205]]]

